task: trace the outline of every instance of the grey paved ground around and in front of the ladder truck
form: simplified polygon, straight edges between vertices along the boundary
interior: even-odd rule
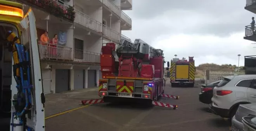
[[[179,95],[180,100],[160,101],[179,105],[178,110],[140,105],[98,104],[71,111],[45,121],[46,131],[228,131],[228,122],[211,113],[208,105],[198,101],[199,86],[170,87],[165,93]],[[50,94],[46,96],[46,117],[80,107],[80,100],[99,98],[97,89]]]

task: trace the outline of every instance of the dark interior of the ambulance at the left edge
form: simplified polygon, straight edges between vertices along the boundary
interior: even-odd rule
[[[10,130],[11,99],[12,99],[12,52],[6,48],[7,31],[17,34],[14,25],[0,22],[0,127],[3,131]]]

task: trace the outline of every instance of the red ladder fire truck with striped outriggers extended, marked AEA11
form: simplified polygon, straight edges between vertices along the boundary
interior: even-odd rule
[[[114,55],[118,56],[117,62]],[[99,80],[99,96],[103,96],[103,99],[82,103],[129,99],[176,109],[176,105],[158,101],[159,97],[178,99],[176,96],[163,94],[164,63],[163,50],[154,49],[141,39],[135,39],[134,43],[121,39],[117,49],[114,43],[104,44],[100,56],[102,79]],[[170,67],[170,63],[167,64]]]

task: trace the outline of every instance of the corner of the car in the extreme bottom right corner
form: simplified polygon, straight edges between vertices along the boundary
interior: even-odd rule
[[[244,116],[242,118],[244,124],[243,131],[256,131],[256,117],[255,116]]]

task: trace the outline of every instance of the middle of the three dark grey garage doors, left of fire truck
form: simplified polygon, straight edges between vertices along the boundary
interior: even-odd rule
[[[74,70],[74,89],[84,88],[84,70]]]

